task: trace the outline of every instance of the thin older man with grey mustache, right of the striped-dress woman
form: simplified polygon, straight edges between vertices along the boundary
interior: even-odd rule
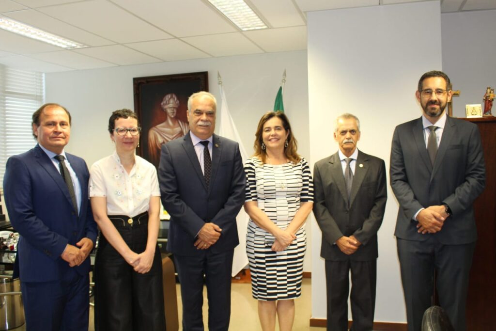
[[[339,150],[313,169],[313,213],[322,230],[320,256],[325,259],[327,330],[348,330],[348,289],[351,271],[351,312],[354,331],[373,328],[377,261],[377,230],[386,207],[384,161],[357,149],[360,121],[351,114],[336,120]]]

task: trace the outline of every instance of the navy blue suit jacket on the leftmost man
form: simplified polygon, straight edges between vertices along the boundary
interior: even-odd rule
[[[3,193],[10,223],[20,234],[17,258],[23,282],[61,279],[70,268],[60,257],[65,246],[75,246],[84,237],[96,241],[97,227],[88,199],[88,168],[83,159],[65,155],[81,185],[79,215],[61,174],[39,145],[7,161]],[[80,274],[88,273],[90,259],[74,268]]]

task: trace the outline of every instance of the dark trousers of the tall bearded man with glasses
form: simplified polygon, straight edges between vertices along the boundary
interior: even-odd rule
[[[443,245],[433,236],[426,241],[397,238],[401,280],[405,293],[408,331],[420,331],[422,317],[432,305],[434,269],[439,305],[455,331],[465,331],[465,308],[475,243]]]

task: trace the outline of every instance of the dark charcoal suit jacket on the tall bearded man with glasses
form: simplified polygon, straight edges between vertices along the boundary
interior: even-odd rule
[[[389,169],[391,187],[399,202],[395,236],[446,245],[476,241],[472,202],[484,190],[486,171],[479,129],[473,123],[448,117],[434,167],[427,153],[422,118],[396,127]],[[417,233],[412,217],[422,207],[446,203],[452,215],[441,231]]]

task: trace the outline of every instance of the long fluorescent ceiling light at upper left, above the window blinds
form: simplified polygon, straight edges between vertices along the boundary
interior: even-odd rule
[[[68,40],[52,33],[45,32],[43,30],[34,28],[32,26],[26,25],[21,22],[14,21],[9,18],[0,16],[0,29],[7,30],[13,33],[20,34],[24,37],[29,37],[39,41],[43,41],[48,44],[59,46],[65,49],[75,49],[87,47],[86,45],[76,43],[72,40]]]

